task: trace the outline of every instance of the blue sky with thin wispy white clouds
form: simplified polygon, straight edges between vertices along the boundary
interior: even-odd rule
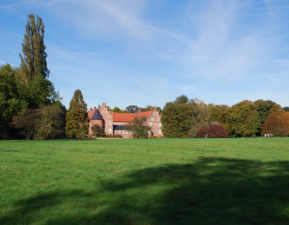
[[[76,89],[88,108],[163,108],[179,95],[289,106],[287,0],[1,0],[0,64],[20,64],[30,13],[66,108]]]

